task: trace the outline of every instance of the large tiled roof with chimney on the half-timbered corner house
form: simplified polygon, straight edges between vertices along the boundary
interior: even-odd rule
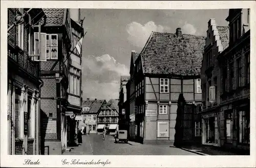
[[[205,37],[153,32],[140,56],[146,74],[200,75]]]

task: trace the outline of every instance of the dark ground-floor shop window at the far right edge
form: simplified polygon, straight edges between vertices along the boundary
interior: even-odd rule
[[[250,111],[239,111],[239,142],[250,143]]]

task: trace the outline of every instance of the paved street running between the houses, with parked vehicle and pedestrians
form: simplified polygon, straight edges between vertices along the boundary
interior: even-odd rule
[[[72,147],[71,152],[63,155],[196,155],[182,149],[168,146],[150,146],[140,143],[115,143],[113,136],[107,135],[102,140],[102,135],[83,135],[83,143],[78,147]]]

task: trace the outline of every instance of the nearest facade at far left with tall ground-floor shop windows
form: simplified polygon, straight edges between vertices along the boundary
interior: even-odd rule
[[[10,30],[7,41],[7,94],[10,155],[39,154],[39,90],[42,82],[39,77],[39,62],[30,57],[30,49],[34,47],[31,36],[34,35],[35,25],[44,15],[42,9],[8,8]]]

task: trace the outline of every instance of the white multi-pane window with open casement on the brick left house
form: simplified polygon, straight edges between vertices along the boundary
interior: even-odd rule
[[[32,51],[31,51],[32,52]],[[39,33],[34,33],[34,55],[39,55]],[[47,61],[47,59],[58,59],[58,35],[40,33],[40,58],[35,61]]]

